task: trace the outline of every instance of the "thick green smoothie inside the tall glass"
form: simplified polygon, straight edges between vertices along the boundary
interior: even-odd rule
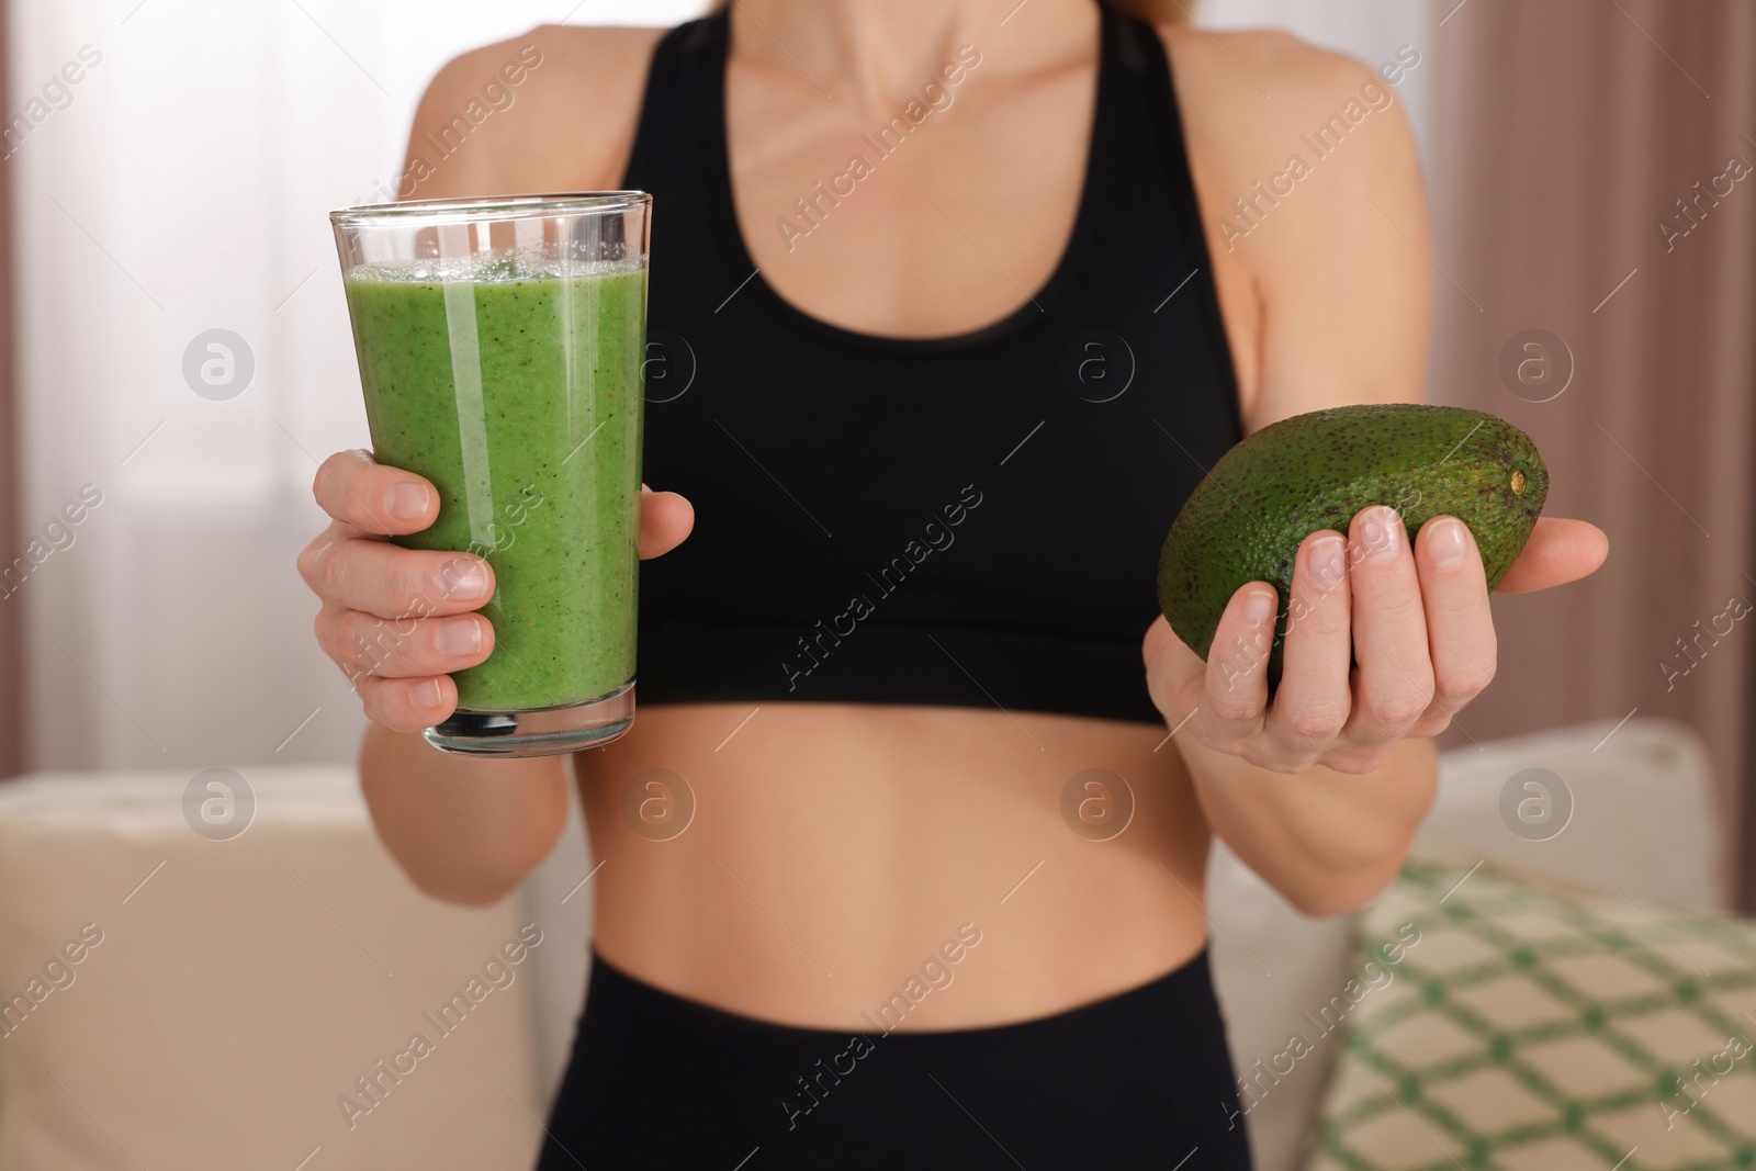
[[[453,676],[458,708],[609,695],[634,679],[646,269],[437,263],[344,284],[374,455],[439,490],[397,542],[493,565],[495,646]]]

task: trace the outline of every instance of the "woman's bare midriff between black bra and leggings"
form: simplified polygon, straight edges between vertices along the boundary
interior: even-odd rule
[[[646,706],[574,764],[602,864],[597,952],[727,1011],[818,1029],[1010,1024],[1148,983],[1206,939],[1208,825],[1162,727]],[[1085,815],[1066,811],[1080,774],[1076,797],[1099,802]]]

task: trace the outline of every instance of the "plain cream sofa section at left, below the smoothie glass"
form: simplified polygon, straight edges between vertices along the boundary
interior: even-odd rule
[[[190,772],[0,785],[0,1166],[529,1166],[522,906],[420,894],[353,769],[242,774],[230,839]]]

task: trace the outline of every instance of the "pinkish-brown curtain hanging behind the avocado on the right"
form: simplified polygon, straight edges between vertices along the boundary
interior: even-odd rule
[[[1500,678],[1447,746],[1635,709],[1689,723],[1726,883],[1756,908],[1756,5],[1452,4],[1431,54],[1433,397],[1524,427],[1549,511],[1612,551],[1587,583],[1494,600]],[[1514,355],[1521,395],[1500,370],[1533,328],[1572,353],[1549,402],[1529,399],[1558,388],[1554,344]]]

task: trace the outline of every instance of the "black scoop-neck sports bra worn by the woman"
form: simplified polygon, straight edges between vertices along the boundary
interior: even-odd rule
[[[625,177],[655,211],[643,478],[694,502],[695,532],[641,567],[641,704],[1162,720],[1140,657],[1159,548],[1241,427],[1164,46],[1108,7],[1101,28],[1054,276],[936,339],[845,330],[767,286],[732,207],[727,14],[658,42]],[[908,107],[860,156],[955,116]],[[827,177],[794,230],[857,183]]]

